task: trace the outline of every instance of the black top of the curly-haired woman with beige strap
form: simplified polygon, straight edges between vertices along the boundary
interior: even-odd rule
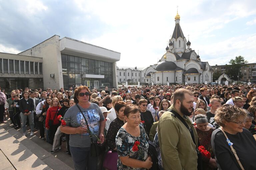
[[[256,169],[256,141],[250,131],[243,128],[243,132],[237,134],[229,134],[225,132],[237,156],[241,161],[245,170]],[[240,166],[232,153],[227,139],[220,129],[212,132],[211,138],[212,149],[215,154],[216,163],[219,170],[240,170]]]

